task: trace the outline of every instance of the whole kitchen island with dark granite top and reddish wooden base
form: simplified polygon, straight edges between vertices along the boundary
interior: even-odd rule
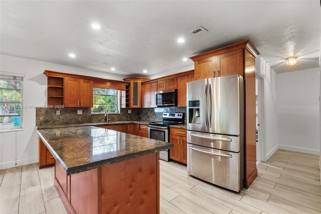
[[[38,134],[68,213],[159,213],[158,152],[173,144],[94,126]]]

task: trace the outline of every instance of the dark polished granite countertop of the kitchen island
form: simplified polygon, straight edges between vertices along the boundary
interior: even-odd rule
[[[173,148],[171,143],[95,126],[37,132],[67,176]]]

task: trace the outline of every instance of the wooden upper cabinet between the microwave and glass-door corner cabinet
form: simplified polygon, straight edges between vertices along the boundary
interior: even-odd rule
[[[157,91],[157,83],[151,82],[142,84],[141,96],[142,96],[142,108],[155,108],[156,97],[155,92]]]

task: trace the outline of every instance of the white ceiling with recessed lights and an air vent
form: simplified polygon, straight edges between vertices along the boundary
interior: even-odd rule
[[[318,67],[320,1],[1,1],[1,54],[121,75],[250,40],[276,72]],[[93,23],[100,30],[91,28]],[[203,26],[208,33],[193,35]],[[178,44],[179,37],[185,38]],[[73,52],[76,58],[68,57]],[[297,56],[286,66],[285,58]],[[115,71],[110,68],[115,67]],[[142,73],[147,69],[147,73]],[[184,71],[184,70],[182,70]],[[88,74],[90,75],[90,74]]]

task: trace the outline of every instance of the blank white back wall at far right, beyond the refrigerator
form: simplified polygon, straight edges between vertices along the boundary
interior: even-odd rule
[[[277,74],[279,148],[319,154],[319,69]]]

